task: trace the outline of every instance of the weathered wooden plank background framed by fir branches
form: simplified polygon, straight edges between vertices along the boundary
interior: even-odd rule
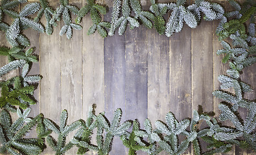
[[[112,6],[112,1],[98,2]],[[81,8],[86,1],[70,0],[70,3]],[[228,7],[225,1],[220,3]],[[59,5],[56,1],[50,4]],[[142,5],[149,8],[151,3],[143,0]],[[110,19],[110,13],[104,16],[105,21]],[[42,22],[45,23],[45,19]],[[96,112],[105,111],[110,120],[114,110],[122,108],[122,122],[137,118],[142,128],[145,118],[151,119],[154,125],[156,120],[164,120],[169,111],[179,121],[190,118],[198,105],[218,116],[220,100],[213,98],[211,93],[220,89],[217,77],[225,74],[228,68],[221,63],[222,56],[216,54],[222,48],[215,36],[218,23],[202,21],[195,29],[185,25],[182,32],[171,37],[160,36],[155,29],[140,26],[134,30],[128,28],[123,36],[116,32],[103,39],[98,33],[87,36],[92,25],[87,15],[81,23],[83,30],[74,30],[70,40],[59,36],[63,23],[59,23],[52,36],[25,31],[39,55],[39,63],[33,65],[30,74],[43,76],[35,92],[38,103],[32,106],[30,116],[41,112],[45,118],[59,122],[61,110],[67,109],[68,123],[71,123],[86,119],[94,103]],[[4,37],[1,34],[1,45],[6,45]],[[5,64],[6,58],[1,57],[1,66]],[[244,69],[242,80],[255,86],[254,72],[255,65]],[[255,98],[255,92],[246,97]],[[67,154],[76,154],[76,150]],[[115,138],[111,154],[127,153],[120,139]],[[46,149],[43,154],[53,152]],[[191,147],[186,154],[193,154]],[[235,147],[228,154],[253,152]]]

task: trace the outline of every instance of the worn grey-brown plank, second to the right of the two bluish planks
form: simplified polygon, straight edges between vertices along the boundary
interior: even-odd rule
[[[191,28],[184,25],[181,32],[170,37],[168,109],[181,121],[191,117]],[[183,140],[179,136],[180,141]],[[191,154],[189,147],[184,154]]]

